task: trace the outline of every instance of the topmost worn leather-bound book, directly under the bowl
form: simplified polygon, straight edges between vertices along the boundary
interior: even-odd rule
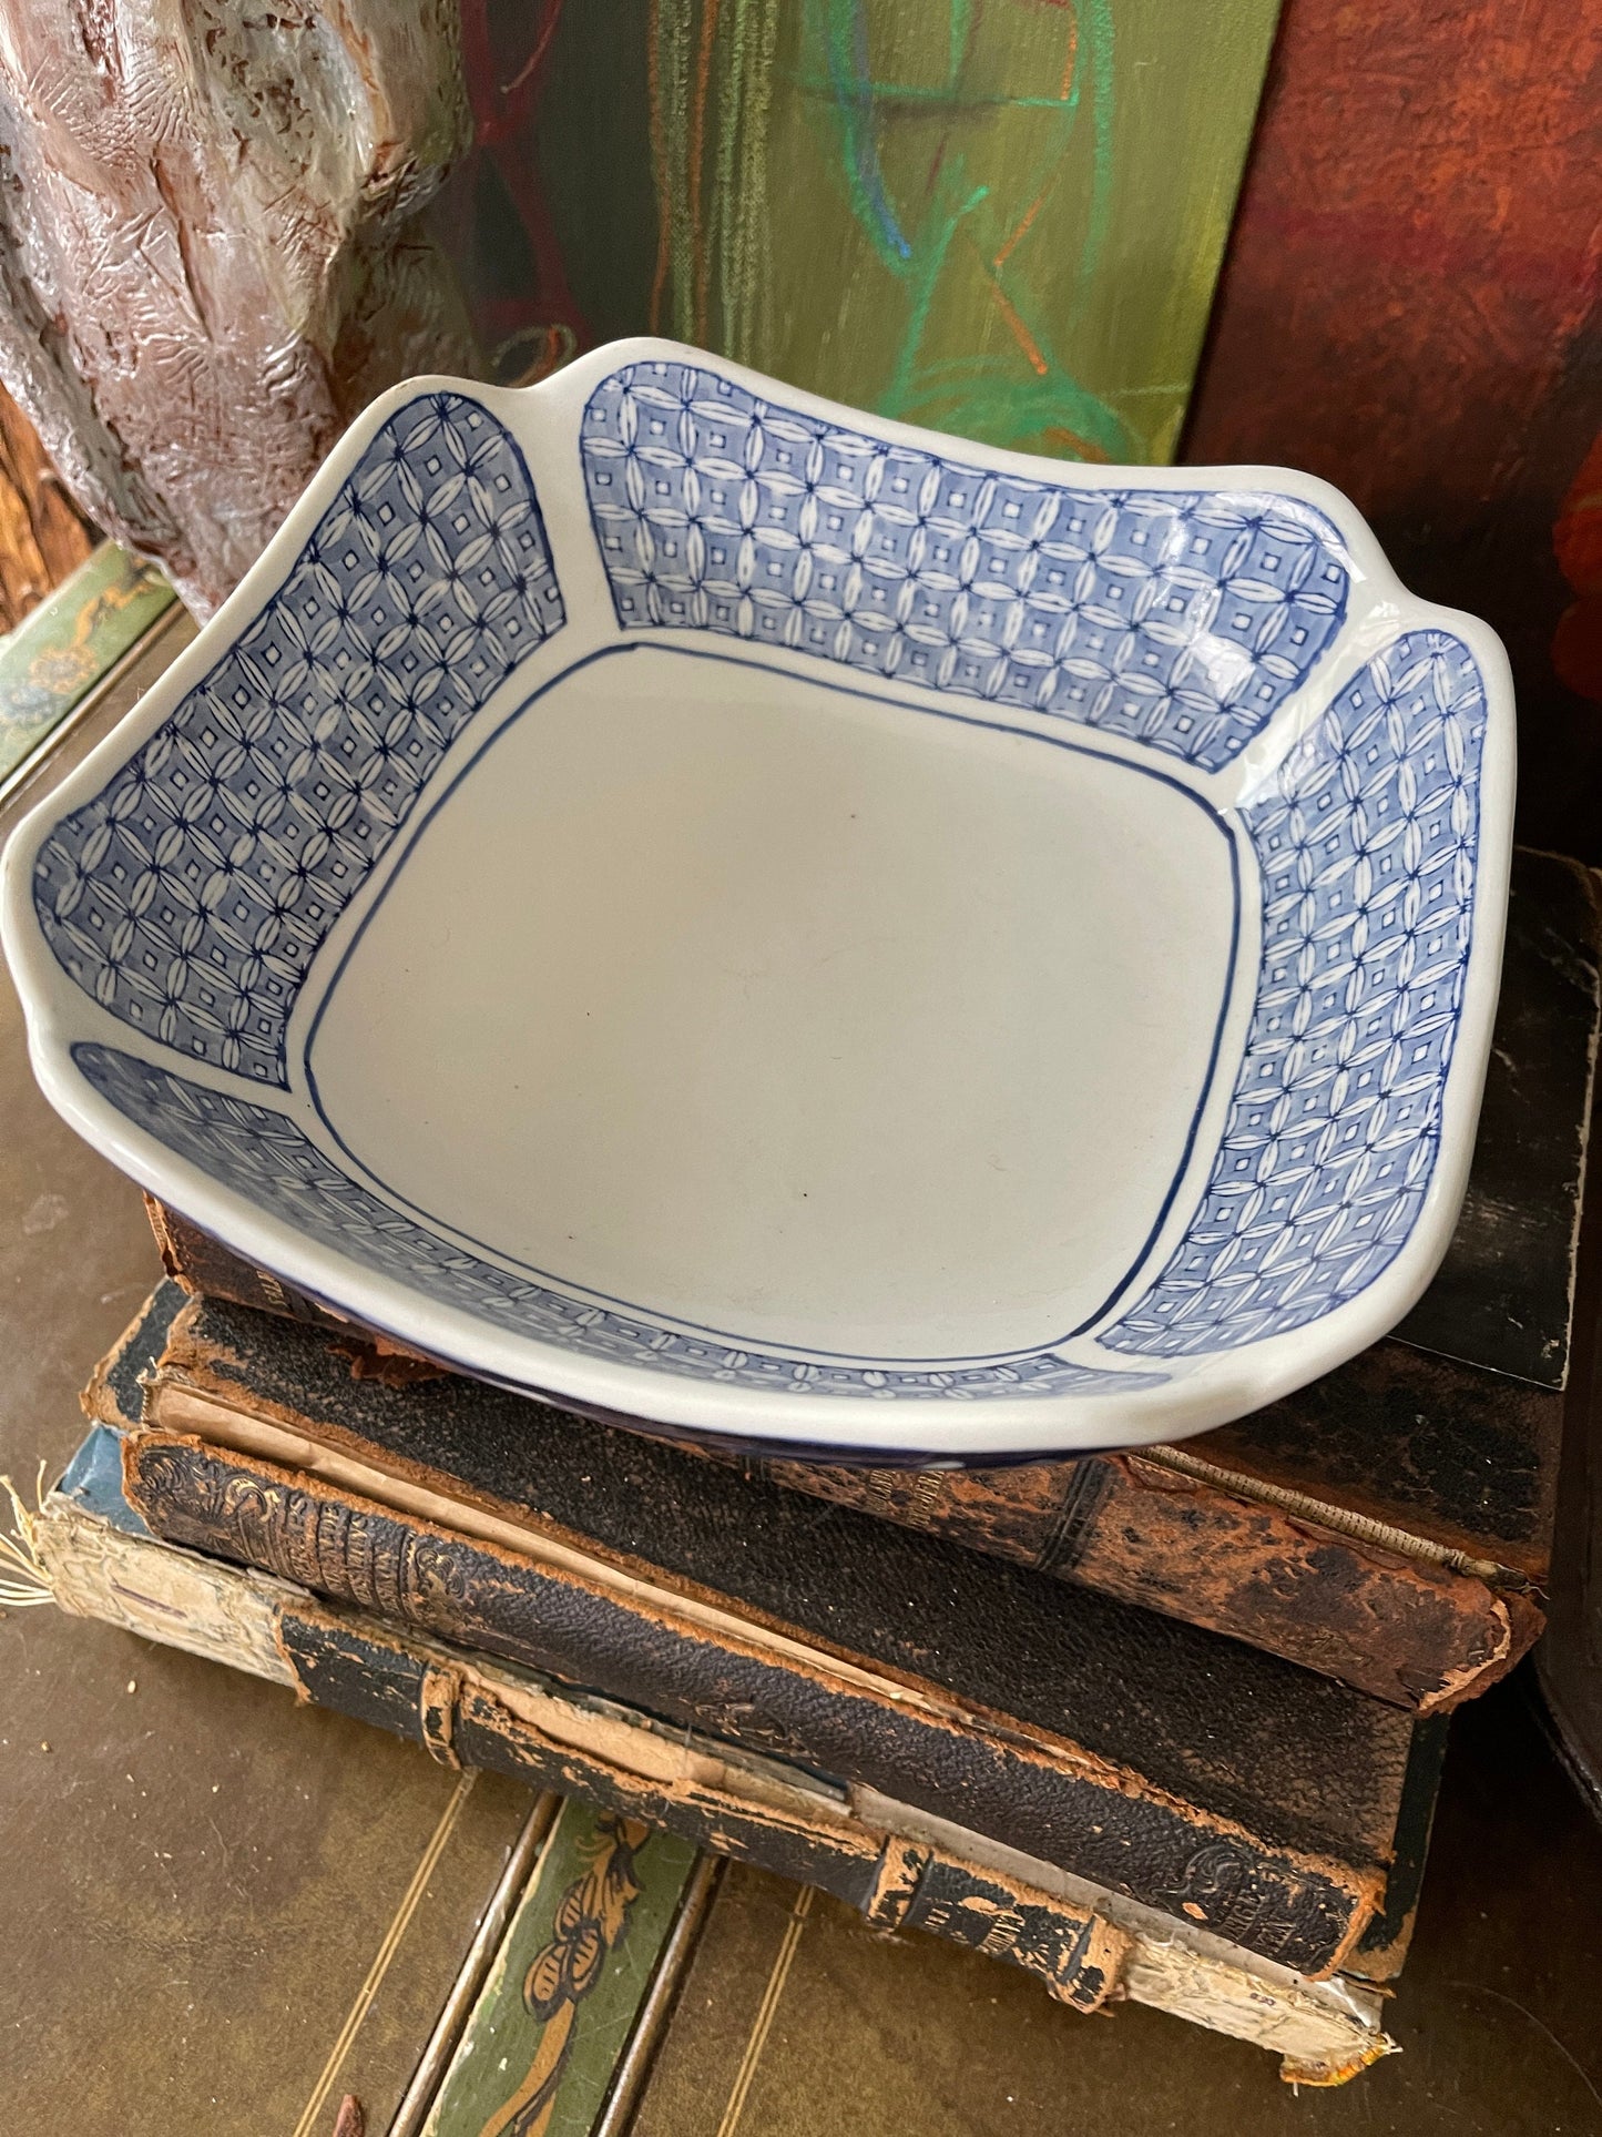
[[[1395,1338],[1181,1447],[995,1470],[754,1451],[748,1475],[1228,1633],[1418,1714],[1448,1710],[1542,1624],[1596,1041],[1596,878],[1519,853],[1463,1220]],[[404,1346],[350,1331],[179,1214],[152,1203],[152,1222],[188,1291],[344,1329],[370,1342],[372,1370],[408,1370]]]

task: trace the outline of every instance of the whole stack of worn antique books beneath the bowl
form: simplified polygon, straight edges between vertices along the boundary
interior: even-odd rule
[[[1598,891],[1514,872],[1474,1184],[1354,1363],[1183,1447],[731,1457],[444,1372],[152,1205],[30,1522],[56,1598],[1339,2081],[1388,2047],[1448,1714],[1542,1624]]]

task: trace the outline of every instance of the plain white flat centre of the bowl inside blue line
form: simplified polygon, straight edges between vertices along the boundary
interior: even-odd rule
[[[564,1289],[985,1357],[1141,1263],[1237,936],[1230,833],[1156,769],[630,648],[436,806],[308,1062],[376,1182]]]

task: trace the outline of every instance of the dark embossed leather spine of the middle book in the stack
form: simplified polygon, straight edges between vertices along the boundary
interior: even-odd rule
[[[1194,1921],[1303,1975],[1361,1940],[1382,1870],[1273,1846],[1066,1740],[886,1684],[179,1432],[124,1442],[152,1534],[799,1761]]]

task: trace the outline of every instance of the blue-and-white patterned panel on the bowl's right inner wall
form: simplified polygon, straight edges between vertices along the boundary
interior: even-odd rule
[[[1482,742],[1474,656],[1410,630],[1241,810],[1262,870],[1252,1034],[1200,1212],[1109,1348],[1282,1336],[1401,1252],[1463,1002]]]

